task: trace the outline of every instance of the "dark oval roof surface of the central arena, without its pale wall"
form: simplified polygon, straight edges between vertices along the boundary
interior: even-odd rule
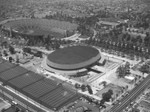
[[[87,61],[98,54],[99,51],[93,47],[72,46],[52,52],[48,59],[59,64],[76,64]]]

